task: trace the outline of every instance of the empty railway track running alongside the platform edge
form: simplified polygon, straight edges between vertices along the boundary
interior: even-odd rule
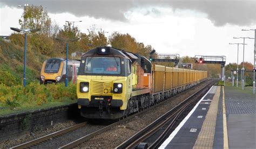
[[[213,83],[206,85],[203,89],[192,94],[192,96],[188,97],[178,106],[174,107],[169,112],[166,112],[163,116],[153,121],[153,123],[134,134],[134,136],[127,139],[116,148],[135,148],[138,146],[142,148],[157,148],[163,143],[165,137],[170,133],[177,119],[187,107],[200,100],[212,85]]]

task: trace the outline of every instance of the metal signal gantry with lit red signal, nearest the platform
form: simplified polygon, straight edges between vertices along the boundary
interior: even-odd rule
[[[220,78],[224,81],[226,56],[194,56],[194,62],[200,64],[220,64]]]

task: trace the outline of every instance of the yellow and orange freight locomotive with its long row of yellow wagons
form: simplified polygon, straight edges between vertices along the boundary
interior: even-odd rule
[[[85,118],[118,119],[206,78],[206,71],[152,65],[144,56],[109,46],[98,47],[86,52],[80,61],[78,108]]]

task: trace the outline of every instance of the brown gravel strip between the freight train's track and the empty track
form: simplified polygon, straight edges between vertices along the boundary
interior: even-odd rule
[[[156,109],[152,109],[146,113],[139,115],[136,118],[127,120],[125,123],[114,126],[110,130],[87,140],[83,144],[77,146],[77,148],[114,148],[123,141],[129,139],[133,134],[142,130],[144,127],[152,123],[161,115],[171,110],[174,106],[178,105],[181,101],[191,96],[194,92],[203,88],[209,81],[201,83],[192,89],[180,93],[178,96],[172,97],[167,103],[159,105]]]

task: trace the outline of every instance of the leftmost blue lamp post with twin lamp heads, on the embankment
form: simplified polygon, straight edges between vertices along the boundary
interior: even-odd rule
[[[41,29],[17,29],[17,28],[10,28],[13,31],[16,32],[24,32],[25,35],[25,43],[24,43],[24,69],[23,69],[23,86],[26,87],[26,33],[27,32],[37,32],[40,31]]]

